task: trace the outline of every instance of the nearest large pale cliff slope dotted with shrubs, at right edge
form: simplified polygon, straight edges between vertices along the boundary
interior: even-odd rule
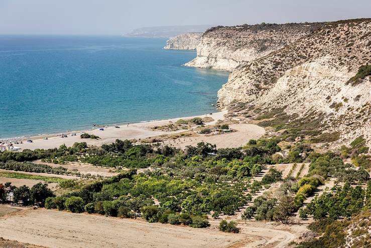
[[[240,64],[218,92],[233,116],[321,117],[339,143],[371,144],[371,19],[324,24],[266,56]]]

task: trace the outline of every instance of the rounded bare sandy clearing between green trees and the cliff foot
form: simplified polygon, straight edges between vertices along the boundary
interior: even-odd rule
[[[183,137],[175,140],[166,140],[164,143],[182,149],[187,145],[195,146],[202,141],[216,144],[217,148],[239,147],[248,143],[250,139],[260,138],[265,133],[263,127],[252,124],[231,124],[229,127],[237,131],[211,136]]]

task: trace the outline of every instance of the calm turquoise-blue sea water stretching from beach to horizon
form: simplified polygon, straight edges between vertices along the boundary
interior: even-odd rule
[[[215,112],[228,73],[166,39],[0,36],[0,138]]]

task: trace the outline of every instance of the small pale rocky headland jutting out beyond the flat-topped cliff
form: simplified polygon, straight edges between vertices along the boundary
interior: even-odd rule
[[[194,50],[201,41],[202,33],[185,33],[170,38],[164,49]]]

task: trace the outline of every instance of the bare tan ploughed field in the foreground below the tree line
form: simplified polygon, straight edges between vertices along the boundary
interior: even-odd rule
[[[24,210],[0,218],[3,238],[48,247],[228,247],[247,235],[144,220],[56,210]],[[243,245],[243,243],[241,245]]]

